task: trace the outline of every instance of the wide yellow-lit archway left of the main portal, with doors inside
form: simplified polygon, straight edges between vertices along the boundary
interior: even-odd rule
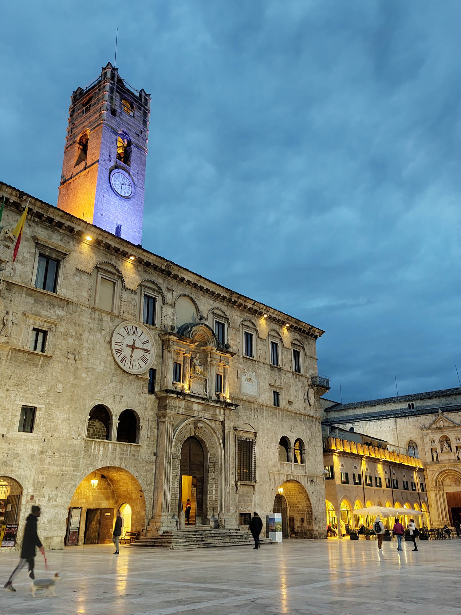
[[[146,523],[146,502],[136,478],[121,467],[100,467],[77,485],[72,496],[64,544],[111,542],[117,510],[131,512],[130,530],[142,531]],[[122,517],[123,517],[122,513]]]

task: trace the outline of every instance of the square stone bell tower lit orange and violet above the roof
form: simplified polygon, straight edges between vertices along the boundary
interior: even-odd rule
[[[58,207],[141,244],[151,97],[109,62],[72,94]]]

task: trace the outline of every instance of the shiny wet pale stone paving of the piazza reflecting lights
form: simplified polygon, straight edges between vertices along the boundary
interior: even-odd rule
[[[48,552],[63,580],[56,597],[33,598],[25,570],[17,592],[0,593],[0,613],[234,615],[272,613],[372,615],[461,614],[461,540],[404,543],[291,540],[283,545],[170,551],[120,546],[68,547]],[[0,555],[1,584],[18,560]],[[36,577],[44,576],[36,558]]]

